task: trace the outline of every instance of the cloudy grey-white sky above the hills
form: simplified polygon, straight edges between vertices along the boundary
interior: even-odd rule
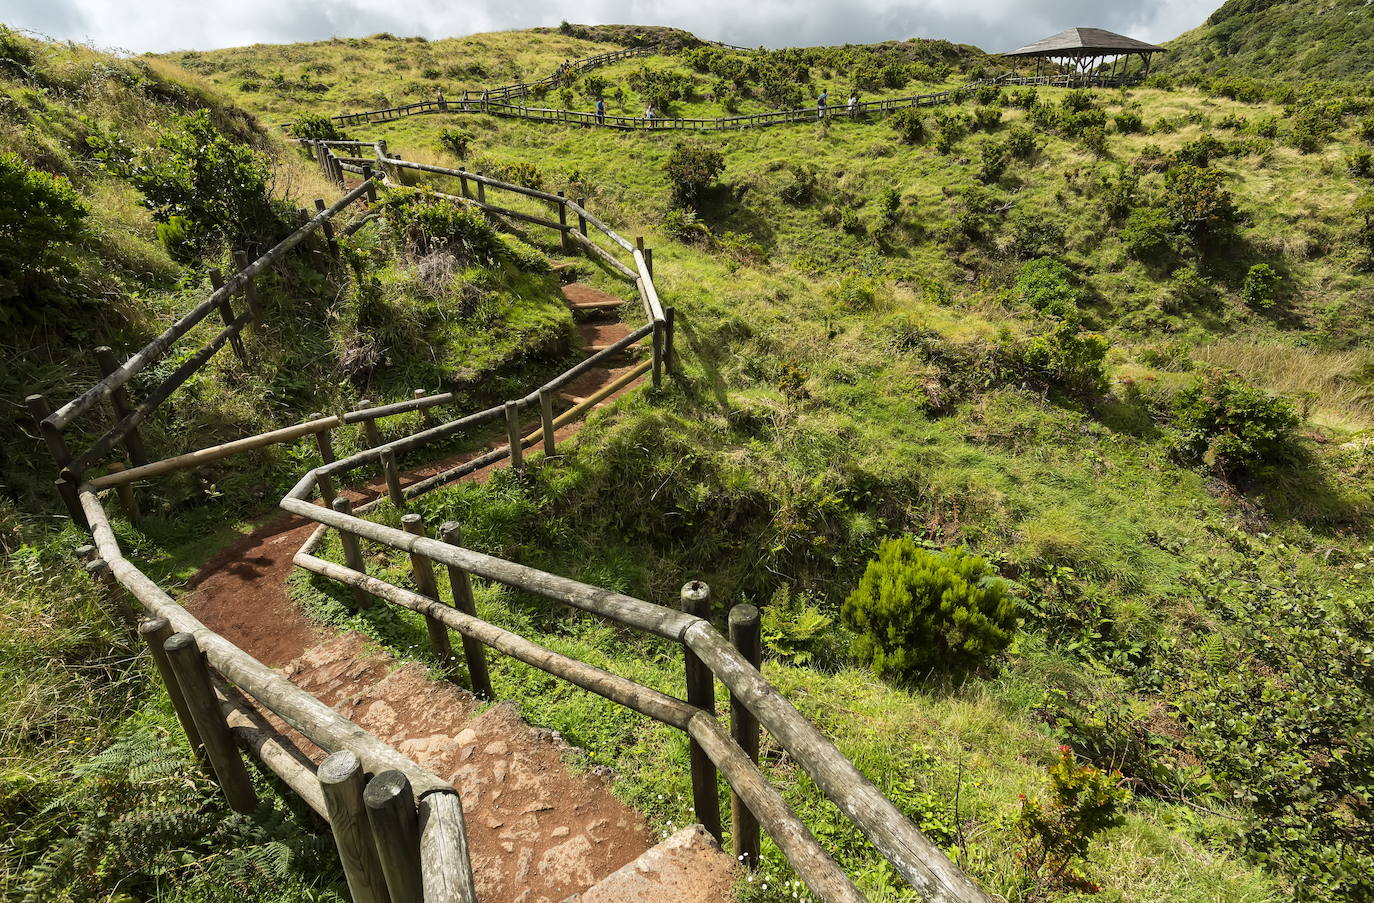
[[[102,49],[213,49],[257,43],[577,23],[673,25],[747,47],[943,37],[1007,51],[1072,26],[1167,41],[1220,0],[0,0],[0,22]]]

